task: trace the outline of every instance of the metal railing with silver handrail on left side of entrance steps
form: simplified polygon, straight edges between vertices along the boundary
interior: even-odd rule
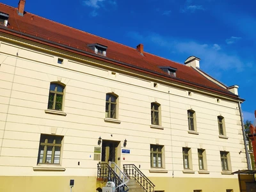
[[[111,168],[112,163],[99,163],[97,164],[97,178],[107,179],[116,185],[116,192],[127,192],[129,190],[127,182],[129,178],[120,170],[115,164],[114,170]],[[119,175],[116,171],[119,171]],[[126,188],[126,189],[125,189]]]

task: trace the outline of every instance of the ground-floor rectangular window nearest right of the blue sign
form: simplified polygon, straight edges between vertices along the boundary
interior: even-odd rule
[[[163,168],[163,145],[150,145],[150,163],[152,168]]]

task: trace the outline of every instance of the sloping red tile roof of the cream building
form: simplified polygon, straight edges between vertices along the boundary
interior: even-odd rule
[[[111,63],[115,65],[122,65],[123,67],[133,68],[140,72],[153,74],[154,76],[161,76],[166,81],[177,81],[179,83],[189,84],[212,92],[219,92],[230,97],[236,97],[233,93],[225,88],[222,88],[216,83],[213,83],[202,74],[198,73],[194,68],[187,67],[180,63],[170,61],[154,54],[144,52],[143,56],[134,48],[126,45],[118,44],[106,38],[95,36],[78,29],[70,28],[58,22],[44,19],[32,13],[25,12],[24,16],[17,14],[17,8],[7,6],[0,3],[0,12],[9,14],[8,29],[1,27],[0,31],[4,33],[11,33],[12,35],[20,36],[20,38],[29,38],[43,44],[59,47],[65,45],[65,50],[87,52],[87,56],[97,58],[99,60],[110,59]],[[107,56],[101,57],[95,54],[88,44],[101,44],[108,47]],[[63,48],[63,47],[62,47]],[[63,48],[63,49],[64,49]],[[74,50],[75,49],[75,50]],[[88,54],[89,53],[89,54]],[[167,76],[159,67],[173,67],[177,68],[177,76]]]

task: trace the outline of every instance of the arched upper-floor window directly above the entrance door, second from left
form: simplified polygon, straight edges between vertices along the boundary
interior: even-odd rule
[[[117,103],[117,96],[111,93],[106,95],[106,118],[116,118],[116,103]]]

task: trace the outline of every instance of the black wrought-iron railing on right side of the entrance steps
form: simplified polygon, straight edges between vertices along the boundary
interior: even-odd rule
[[[135,164],[124,164],[124,173],[129,179],[134,179],[147,192],[154,192],[155,185],[139,170]]]

